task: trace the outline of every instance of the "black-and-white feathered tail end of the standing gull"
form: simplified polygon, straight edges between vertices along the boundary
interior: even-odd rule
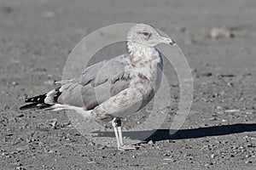
[[[57,99],[61,95],[59,89],[60,88],[56,88],[54,90],[49,91],[48,94],[42,94],[26,99],[25,102],[31,104],[21,106],[20,110],[27,110],[32,108],[45,109],[51,107],[57,102]]]

